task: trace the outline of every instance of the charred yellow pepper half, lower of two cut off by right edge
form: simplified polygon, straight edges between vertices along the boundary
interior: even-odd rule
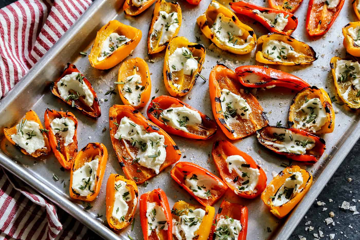
[[[345,60],[350,62],[357,62],[352,58],[340,58],[340,57],[332,57],[330,60],[330,67],[334,78],[334,85],[337,94],[341,98],[341,100],[352,110],[358,110],[360,108],[360,90],[357,90],[354,87],[354,84],[351,83],[352,79],[356,79],[356,74],[358,74],[355,70],[354,66],[348,66],[346,63],[343,64],[343,72],[336,71],[338,67],[338,61]]]

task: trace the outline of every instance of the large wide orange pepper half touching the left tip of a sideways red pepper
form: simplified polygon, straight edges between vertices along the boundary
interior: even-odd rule
[[[231,104],[226,106],[226,109],[222,109],[221,103],[224,99],[221,98],[221,95],[224,89],[238,95],[246,101],[251,108],[251,113],[248,115],[247,119],[243,118],[242,115],[237,114],[233,109],[230,109]],[[226,137],[231,140],[252,135],[257,129],[268,124],[269,121],[262,111],[263,109],[256,97],[249,93],[248,90],[239,83],[238,76],[235,72],[225,65],[218,64],[211,70],[209,90],[215,121],[220,126],[222,132],[225,133]],[[245,111],[246,109],[242,109],[242,111]],[[229,120],[232,121],[230,122]],[[233,120],[237,122],[234,122]]]

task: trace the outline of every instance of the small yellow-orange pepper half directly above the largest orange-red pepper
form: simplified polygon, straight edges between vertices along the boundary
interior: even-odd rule
[[[140,76],[140,79],[134,78],[137,77],[136,75]],[[137,81],[137,83],[133,84],[131,81]],[[125,105],[131,105],[134,108],[144,107],[149,101],[151,94],[151,79],[148,64],[142,58],[126,60],[119,68],[116,84],[118,85],[121,101]],[[133,87],[131,88],[130,86]]]

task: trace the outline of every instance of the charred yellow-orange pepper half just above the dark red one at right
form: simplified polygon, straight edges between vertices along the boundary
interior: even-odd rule
[[[320,99],[322,106],[314,106],[313,108],[323,108],[326,113],[327,120],[325,123],[320,126],[319,130],[315,130],[311,125],[308,126],[305,124],[300,125],[301,122],[306,121],[306,123],[312,123],[315,121],[316,124],[316,117],[309,116],[308,113],[299,111],[302,105],[313,98]],[[315,102],[317,103],[317,102]],[[307,107],[309,108],[309,107]],[[300,92],[296,94],[293,98],[293,101],[290,105],[289,109],[289,117],[288,117],[288,124],[292,128],[300,128],[306,130],[307,132],[311,132],[314,134],[324,134],[324,133],[332,133],[334,131],[335,126],[335,112],[333,109],[333,105],[331,104],[331,99],[329,94],[325,92],[323,88],[317,88],[316,86],[309,86],[302,89]],[[305,120],[304,120],[305,119]]]

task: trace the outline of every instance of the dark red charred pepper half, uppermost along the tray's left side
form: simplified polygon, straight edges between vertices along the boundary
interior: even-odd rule
[[[70,75],[73,72],[78,73],[76,80],[79,81],[81,84],[85,84],[87,88],[89,88],[91,94],[93,94],[93,105],[88,106],[85,102],[85,96],[79,96],[79,93],[71,90],[71,93],[69,92],[69,95],[66,99],[62,98],[60,96],[60,92],[58,89],[58,82],[60,79],[62,79],[66,75]],[[89,80],[86,79],[84,75],[76,68],[75,65],[68,63],[67,67],[65,68],[63,74],[50,86],[51,93],[53,93],[58,98],[62,99],[64,102],[66,102],[68,105],[72,107],[76,107],[79,111],[81,111],[83,114],[90,116],[90,117],[100,117],[101,116],[101,109],[99,104],[98,96],[96,95],[96,92],[94,91],[93,87],[91,86],[91,83]]]

